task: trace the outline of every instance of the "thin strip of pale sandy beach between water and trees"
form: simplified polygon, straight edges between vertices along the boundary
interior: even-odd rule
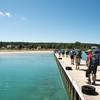
[[[53,50],[0,50],[0,54],[15,53],[53,53]]]

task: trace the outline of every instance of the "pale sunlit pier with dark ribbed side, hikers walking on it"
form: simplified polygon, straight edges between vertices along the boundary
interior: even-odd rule
[[[62,72],[66,78],[66,85],[69,88],[70,94],[73,96],[73,100],[100,100],[100,66],[97,69],[97,80],[96,85],[87,84],[86,80],[86,62],[81,60],[79,70],[76,70],[75,65],[71,65],[70,57],[61,57],[55,54],[57,63],[62,69]],[[66,70],[66,67],[72,67],[72,70]],[[82,93],[82,86],[90,85],[96,88],[97,95],[86,95]]]

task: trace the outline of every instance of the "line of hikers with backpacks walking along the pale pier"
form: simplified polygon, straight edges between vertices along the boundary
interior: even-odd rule
[[[80,49],[72,49],[70,51],[64,51],[64,49],[58,51],[59,57],[62,55],[64,57],[64,54],[66,56],[69,54],[70,59],[71,59],[71,64],[76,65],[76,70],[79,69],[81,58],[82,58],[82,52]],[[96,81],[96,72],[97,72],[97,65],[98,65],[98,60],[95,52],[93,50],[88,50],[87,54],[87,60],[86,60],[86,65],[87,65],[87,77],[88,77],[88,83],[90,84],[95,84]],[[91,80],[92,76],[92,80]]]

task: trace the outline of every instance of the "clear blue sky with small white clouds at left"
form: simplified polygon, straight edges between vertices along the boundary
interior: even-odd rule
[[[100,0],[0,0],[0,41],[100,44]]]

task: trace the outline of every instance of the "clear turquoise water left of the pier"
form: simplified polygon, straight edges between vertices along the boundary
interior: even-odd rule
[[[69,100],[53,54],[0,55],[0,100]]]

